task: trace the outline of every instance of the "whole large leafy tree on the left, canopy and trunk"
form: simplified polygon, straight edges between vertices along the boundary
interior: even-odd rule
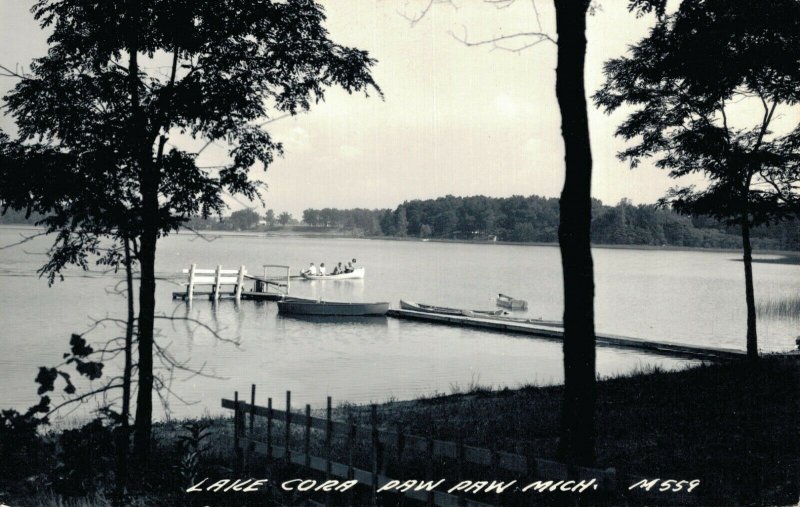
[[[282,153],[254,123],[269,117],[268,104],[296,114],[331,86],[380,93],[375,62],[331,41],[321,7],[304,0],[38,0],[33,12],[52,30],[50,49],[6,97],[8,110],[29,152],[52,149],[76,184],[109,178],[111,195],[125,199],[141,269],[134,445],[145,461],[158,238],[221,210],[223,191],[259,197],[250,169]],[[166,75],[148,72],[162,61]],[[198,167],[194,154],[170,143],[179,133],[227,142],[230,163],[216,174]],[[32,200],[41,188],[30,189]]]

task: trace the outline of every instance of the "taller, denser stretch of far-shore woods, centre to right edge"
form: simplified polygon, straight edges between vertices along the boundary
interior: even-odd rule
[[[346,211],[340,213],[347,213]],[[512,196],[454,197],[406,201],[383,210],[385,236],[554,243],[558,240],[557,198]],[[800,250],[797,218],[753,229],[759,249]],[[654,204],[616,206],[592,201],[592,241],[609,245],[739,248],[735,226],[706,216],[679,215]]]

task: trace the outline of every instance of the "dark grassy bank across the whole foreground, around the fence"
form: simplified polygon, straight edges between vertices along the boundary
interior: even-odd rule
[[[788,505],[797,501],[800,478],[800,357],[766,357],[758,365],[728,363],[704,365],[682,371],[649,370],[602,380],[598,384],[597,453],[598,465],[613,467],[620,477],[631,474],[651,479],[699,479],[701,486],[693,496],[700,505],[765,504]],[[386,403],[379,407],[381,425],[401,427],[406,434],[430,436],[467,445],[495,448],[517,454],[556,459],[562,387],[525,387],[492,390],[470,386],[468,392],[435,396],[414,401]],[[340,406],[334,418],[368,424],[369,407]],[[187,439],[191,428],[203,427],[196,463],[187,462]],[[293,427],[292,446],[302,448],[302,428]],[[263,424],[256,435],[265,436]],[[228,418],[203,421],[161,423],[155,431],[156,467],[134,472],[139,491],[130,504],[184,505],[181,489],[194,478],[247,477],[235,475],[231,450],[232,428]],[[274,441],[282,445],[280,424],[274,428]],[[312,448],[320,452],[319,435]],[[0,501],[9,505],[105,505],[110,479],[89,481],[90,495],[74,503],[53,494],[59,464],[54,436],[47,450],[35,459],[26,457],[36,470],[28,475],[15,470],[3,476]],[[183,445],[181,445],[183,442]],[[49,447],[47,447],[49,446]],[[191,448],[191,446],[189,446]],[[49,453],[49,454],[48,454]],[[95,449],[92,459],[102,451]],[[334,441],[334,459],[346,462],[344,442]],[[369,446],[356,448],[355,462],[369,469]],[[321,454],[317,454],[321,455]],[[105,465],[103,465],[105,459]],[[103,477],[113,467],[110,458],[100,459],[91,473]],[[419,459],[394,463],[389,473],[399,479],[420,478],[427,464]],[[8,463],[6,463],[8,465]],[[438,470],[441,463],[435,463]],[[108,468],[103,470],[103,466]],[[444,470],[444,468],[441,468]],[[452,469],[451,469],[452,470]],[[263,459],[251,463],[252,475],[280,481],[293,477],[315,477],[313,473],[286,466],[270,466]],[[478,477],[480,471],[474,471]],[[138,475],[137,475],[138,474]],[[489,476],[487,479],[513,477]],[[107,476],[107,475],[106,475]],[[522,478],[519,478],[522,479]],[[620,484],[620,490],[628,484]],[[248,501],[258,505],[297,505],[301,496],[266,490]],[[338,505],[358,504],[359,496],[339,495]],[[242,505],[241,496],[194,497],[202,505]],[[320,500],[317,497],[317,500]],[[387,497],[389,500],[389,497]],[[505,496],[509,505],[528,505],[531,497]],[[625,501],[618,498],[618,501]],[[669,503],[670,497],[663,497]],[[238,502],[238,503],[237,503]],[[614,503],[618,503],[614,501]],[[662,503],[660,500],[658,503]],[[250,503],[248,503],[249,505]],[[391,501],[388,503],[393,505]]]

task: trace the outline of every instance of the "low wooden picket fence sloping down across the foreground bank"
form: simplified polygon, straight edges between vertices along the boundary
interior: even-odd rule
[[[497,470],[512,472],[520,477],[536,480],[590,480],[596,479],[598,489],[606,492],[616,490],[616,473],[614,469],[600,470],[583,467],[572,467],[555,461],[532,458],[520,454],[513,454],[498,450],[484,449],[465,445],[462,441],[449,442],[429,437],[405,434],[402,431],[389,431],[379,428],[377,406],[371,406],[370,425],[358,425],[332,419],[331,398],[327,399],[326,417],[313,417],[311,407],[305,406],[305,413],[293,413],[291,407],[291,392],[286,392],[286,409],[278,410],[272,406],[272,398],[267,400],[267,406],[255,404],[255,385],[251,387],[250,403],[239,400],[236,392],[233,400],[223,399],[222,408],[234,411],[234,436],[233,446],[237,455],[239,466],[248,458],[249,453],[265,455],[268,460],[284,460],[287,463],[300,465],[305,468],[323,472],[326,478],[355,479],[360,484],[372,490],[372,503],[377,502],[377,491],[380,487],[393,480],[385,473],[386,447],[395,449],[398,461],[403,456],[421,456],[427,464],[426,479],[436,480],[432,476],[433,458],[446,458],[454,460],[456,470],[452,474],[456,480],[463,479],[463,470],[466,464],[480,465]],[[266,439],[258,440],[254,435],[255,418],[266,419]],[[249,429],[246,429],[245,419],[249,419]],[[285,446],[274,443],[274,422],[283,423],[283,441]],[[291,426],[303,427],[302,450],[291,449]],[[324,432],[322,454],[315,456],[311,450],[312,429]],[[348,463],[332,460],[332,441],[334,436],[344,437],[346,441],[346,454]],[[369,442],[372,457],[371,470],[363,470],[353,465],[353,448],[358,442]],[[402,481],[402,480],[401,480]],[[451,495],[440,491],[408,490],[405,496],[427,502],[428,505],[437,506],[488,506],[464,496]],[[499,502],[500,495],[496,495]]]

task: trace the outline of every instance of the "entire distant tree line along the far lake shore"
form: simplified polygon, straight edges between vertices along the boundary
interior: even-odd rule
[[[9,210],[0,224],[33,223],[24,211]],[[267,231],[300,225],[288,212],[252,209],[222,218],[194,217],[195,230]],[[306,209],[302,223],[356,236],[396,236],[511,242],[555,243],[558,240],[558,199],[539,196],[454,197],[406,201],[391,209]],[[767,250],[800,251],[800,221],[796,218],[753,229],[753,244]],[[654,204],[634,205],[623,199],[615,206],[592,201],[592,241],[603,245],[685,246],[740,248],[734,225],[707,216],[679,215]]]

